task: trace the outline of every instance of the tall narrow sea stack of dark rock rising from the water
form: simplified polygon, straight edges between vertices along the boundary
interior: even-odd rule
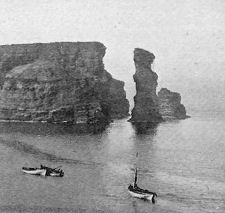
[[[151,69],[154,59],[155,56],[146,50],[139,48],[134,50],[136,72],[133,78],[136,83],[136,96],[131,122],[157,123],[162,120],[156,95],[158,76]]]

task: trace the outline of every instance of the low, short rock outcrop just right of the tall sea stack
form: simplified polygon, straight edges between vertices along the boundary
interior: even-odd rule
[[[186,110],[181,104],[181,96],[177,92],[171,92],[162,88],[158,92],[159,112],[164,119],[184,119],[187,118]]]

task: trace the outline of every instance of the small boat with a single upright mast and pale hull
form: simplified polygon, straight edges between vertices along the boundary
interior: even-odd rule
[[[136,154],[136,157],[137,156],[138,153]],[[134,183],[128,186],[128,192],[132,197],[149,200],[152,201],[152,203],[155,203],[155,198],[157,197],[157,194],[155,192],[151,192],[147,189],[142,189],[137,186],[137,167],[135,168]]]

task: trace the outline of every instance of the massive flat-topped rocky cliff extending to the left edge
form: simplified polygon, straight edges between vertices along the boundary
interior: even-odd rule
[[[0,46],[0,119],[91,124],[127,116],[124,83],[105,71],[105,49],[98,42]]]

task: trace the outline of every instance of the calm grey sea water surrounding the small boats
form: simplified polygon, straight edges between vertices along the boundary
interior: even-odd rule
[[[126,120],[96,135],[1,123],[0,212],[225,212],[224,114],[194,115],[144,133]],[[62,165],[65,176],[21,172],[40,163]],[[127,192],[135,163],[138,184],[158,193],[155,205]]]

